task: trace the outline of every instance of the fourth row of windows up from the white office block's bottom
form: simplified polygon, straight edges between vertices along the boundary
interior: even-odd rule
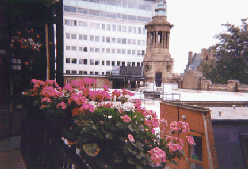
[[[94,35],[89,35],[89,36],[90,36],[89,40],[91,42],[106,42],[106,43],[119,43],[119,44],[132,44],[132,45],[136,45],[136,42],[137,42],[137,45],[145,46],[145,40],[126,39],[126,38],[111,38],[109,36],[107,36],[107,37],[94,36]],[[77,39],[77,34],[66,33],[65,37],[66,37],[66,39]],[[79,34],[78,39],[79,40],[88,40],[88,36]]]

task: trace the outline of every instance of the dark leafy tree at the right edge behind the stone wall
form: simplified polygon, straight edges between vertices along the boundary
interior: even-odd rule
[[[215,83],[239,80],[248,83],[248,32],[235,25],[225,24],[227,31],[215,36],[220,42],[211,47],[215,62],[201,64],[203,75]]]

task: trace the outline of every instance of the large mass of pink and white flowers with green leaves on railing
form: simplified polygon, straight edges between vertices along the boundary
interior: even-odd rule
[[[174,136],[160,139],[155,135],[155,129],[161,124],[166,123],[168,126],[167,119],[158,119],[156,112],[141,107],[139,100],[110,102],[111,93],[107,86],[103,90],[92,90],[91,87],[96,83],[94,79],[73,80],[63,88],[52,80],[44,82],[33,79],[31,83],[33,89],[27,94],[38,96],[41,109],[53,109],[62,113],[63,110],[71,110],[72,121],[80,128],[77,144],[81,144],[81,148],[84,145],[83,150],[89,155],[97,155],[105,146],[101,145],[104,143],[101,139],[109,139],[118,142],[115,145],[119,146],[122,153],[136,154],[139,160],[147,161],[144,154],[148,152],[150,162],[160,166],[166,160],[179,157],[183,149],[182,139]],[[125,89],[112,92],[112,98],[128,98],[133,95]],[[169,128],[183,133],[189,131],[188,123],[182,121],[172,121]],[[186,142],[195,144],[191,136],[186,136]],[[123,147],[122,143],[125,144]],[[141,163],[144,164],[144,161]]]

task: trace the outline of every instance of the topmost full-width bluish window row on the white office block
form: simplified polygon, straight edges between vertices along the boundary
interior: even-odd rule
[[[105,12],[103,10],[76,8],[72,6],[64,6],[64,12],[73,12],[73,13],[80,13],[84,15],[101,16],[101,17],[107,17],[107,18],[112,18],[112,19],[123,19],[123,20],[139,21],[139,22],[145,22],[145,23],[150,22],[152,20],[151,17],[126,15],[126,14],[121,14],[121,13]]]

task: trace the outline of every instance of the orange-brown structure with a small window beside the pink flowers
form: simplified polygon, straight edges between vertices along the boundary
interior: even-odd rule
[[[219,168],[209,109],[180,102],[161,102],[160,118],[167,118],[168,124],[171,121],[187,122],[190,132],[180,133],[178,137],[183,139],[185,136],[193,136],[196,142],[196,145],[183,145],[185,158],[176,160],[179,165],[176,168]],[[166,130],[169,130],[169,126],[161,125],[160,130],[162,136],[168,135]],[[168,167],[173,168],[171,165],[168,165]]]

